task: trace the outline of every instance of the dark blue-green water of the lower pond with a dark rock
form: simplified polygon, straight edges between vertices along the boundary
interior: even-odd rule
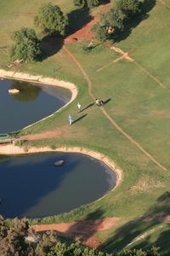
[[[64,166],[54,161],[65,160]],[[0,157],[0,213],[44,217],[95,201],[116,184],[116,173],[83,154]]]

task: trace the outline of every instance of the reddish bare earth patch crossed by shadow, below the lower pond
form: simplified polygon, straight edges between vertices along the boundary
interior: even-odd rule
[[[99,230],[108,230],[115,226],[120,218],[99,218],[95,220],[82,219],[71,223],[34,225],[37,232],[55,230],[59,236],[71,237],[74,241],[81,241],[88,247],[99,247],[102,241],[95,237]]]

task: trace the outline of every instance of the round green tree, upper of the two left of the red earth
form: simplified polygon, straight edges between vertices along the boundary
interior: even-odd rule
[[[38,15],[34,18],[34,24],[43,34],[65,36],[68,19],[59,6],[47,3],[39,9]]]

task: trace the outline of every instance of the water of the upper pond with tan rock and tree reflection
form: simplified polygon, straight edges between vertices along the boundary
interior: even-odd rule
[[[9,95],[8,89],[20,93]],[[18,131],[31,125],[65,105],[71,92],[63,88],[0,80],[0,133]]]

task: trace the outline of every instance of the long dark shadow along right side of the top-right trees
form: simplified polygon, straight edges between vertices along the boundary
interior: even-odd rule
[[[122,40],[126,39],[133,31],[133,28],[139,26],[139,23],[143,20],[149,18],[147,14],[153,7],[156,5],[156,0],[144,0],[141,3],[141,12],[139,15],[134,16],[130,20],[126,20],[124,24],[124,29],[122,32],[118,32],[116,35],[113,35],[112,39],[115,43],[119,43]]]

